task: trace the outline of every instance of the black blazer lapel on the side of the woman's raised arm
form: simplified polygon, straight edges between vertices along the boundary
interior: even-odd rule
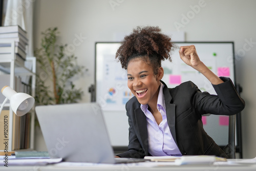
[[[166,86],[166,84],[161,81],[164,84],[163,87],[163,94],[164,94],[164,101],[165,101],[165,110],[166,110],[166,118],[167,118],[167,123],[170,129],[170,133],[172,133],[172,136],[174,138],[175,143],[177,143],[176,139],[176,131],[175,131],[175,104],[172,103],[173,97],[170,95],[169,89]]]

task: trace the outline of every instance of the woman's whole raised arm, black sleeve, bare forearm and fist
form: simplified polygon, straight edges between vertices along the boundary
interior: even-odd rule
[[[219,78],[199,59],[195,46],[182,46],[179,50],[180,58],[195,70],[201,72],[214,86],[218,96],[204,93],[193,93],[197,110],[201,114],[233,115],[244,109],[245,102],[238,95],[229,78]],[[222,83],[222,84],[220,84]]]

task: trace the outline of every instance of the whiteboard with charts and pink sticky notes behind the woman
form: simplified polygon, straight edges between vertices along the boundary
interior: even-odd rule
[[[229,77],[235,84],[234,73],[234,51],[233,42],[175,42],[177,46],[195,45],[197,53],[205,65],[216,75]],[[128,144],[127,130],[129,125],[127,120],[120,119],[125,123],[119,123],[119,132],[112,125],[116,125],[119,120],[113,119],[113,116],[125,115],[125,103],[133,97],[130,89],[127,87],[127,72],[121,68],[120,62],[115,59],[116,51],[120,47],[120,42],[96,42],[95,44],[95,86],[96,102],[106,118],[112,145],[123,146]],[[198,88],[210,94],[216,94],[210,82],[198,71],[187,66],[179,56],[178,49],[170,54],[172,62],[162,61],[164,77],[162,80],[168,88],[174,88],[185,81],[193,81]],[[113,115],[112,115],[113,114]],[[120,115],[119,115],[120,114]],[[110,119],[111,118],[111,119]],[[203,117],[204,129],[214,138],[218,145],[225,145],[228,142],[228,118],[223,116],[211,115]],[[108,126],[109,125],[109,126]],[[123,126],[122,126],[123,125]],[[219,125],[219,131],[227,134],[216,135],[212,127]],[[121,131],[123,130],[123,131]],[[125,133],[125,134],[123,134]],[[215,136],[217,136],[215,138]],[[223,140],[223,137],[226,140]],[[120,141],[123,139],[123,141]]]

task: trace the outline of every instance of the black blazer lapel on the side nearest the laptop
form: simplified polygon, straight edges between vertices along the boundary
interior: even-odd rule
[[[137,122],[137,128],[139,130],[142,147],[145,155],[147,155],[148,143],[147,143],[147,127],[146,127],[146,116],[140,108],[134,110],[135,118]],[[138,137],[139,138],[139,137]]]

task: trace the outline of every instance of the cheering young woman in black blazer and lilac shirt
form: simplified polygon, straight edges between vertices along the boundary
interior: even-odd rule
[[[124,37],[116,58],[127,70],[134,97],[126,103],[128,151],[116,157],[216,155],[227,157],[203,129],[202,115],[234,115],[245,103],[229,78],[218,77],[199,59],[195,46],[180,47],[180,58],[201,72],[217,95],[201,92],[187,81],[168,89],[161,81],[161,60],[169,59],[170,37],[158,27],[137,27]]]

